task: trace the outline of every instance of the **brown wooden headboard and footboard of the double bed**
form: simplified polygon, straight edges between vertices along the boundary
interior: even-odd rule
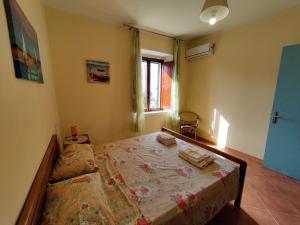
[[[169,130],[167,128],[162,128],[162,131],[167,132],[167,133],[175,136],[176,138],[182,139],[191,144],[205,148],[208,151],[211,151],[217,155],[220,155],[224,158],[227,158],[227,159],[239,164],[239,166],[240,166],[240,178],[239,178],[240,186],[239,186],[238,196],[234,201],[234,205],[235,205],[235,207],[240,208],[243,187],[244,187],[244,181],[245,181],[245,175],[246,175],[246,168],[247,168],[247,163],[244,160],[241,160],[241,159],[239,159],[235,156],[232,156],[228,153],[217,150],[213,147],[202,144],[194,139],[183,136],[183,135],[181,135],[175,131]],[[56,137],[56,135],[53,135],[50,140],[50,143],[48,145],[48,148],[46,150],[46,153],[44,155],[44,158],[41,162],[41,165],[40,165],[40,167],[37,171],[37,174],[33,180],[33,183],[29,190],[29,194],[25,200],[25,203],[23,205],[23,208],[21,210],[19,218],[16,222],[17,225],[38,225],[39,224],[41,215],[43,212],[44,203],[45,203],[48,180],[51,176],[51,172],[52,172],[53,166],[56,162],[58,153],[59,153],[59,145],[57,142],[57,137]]]

